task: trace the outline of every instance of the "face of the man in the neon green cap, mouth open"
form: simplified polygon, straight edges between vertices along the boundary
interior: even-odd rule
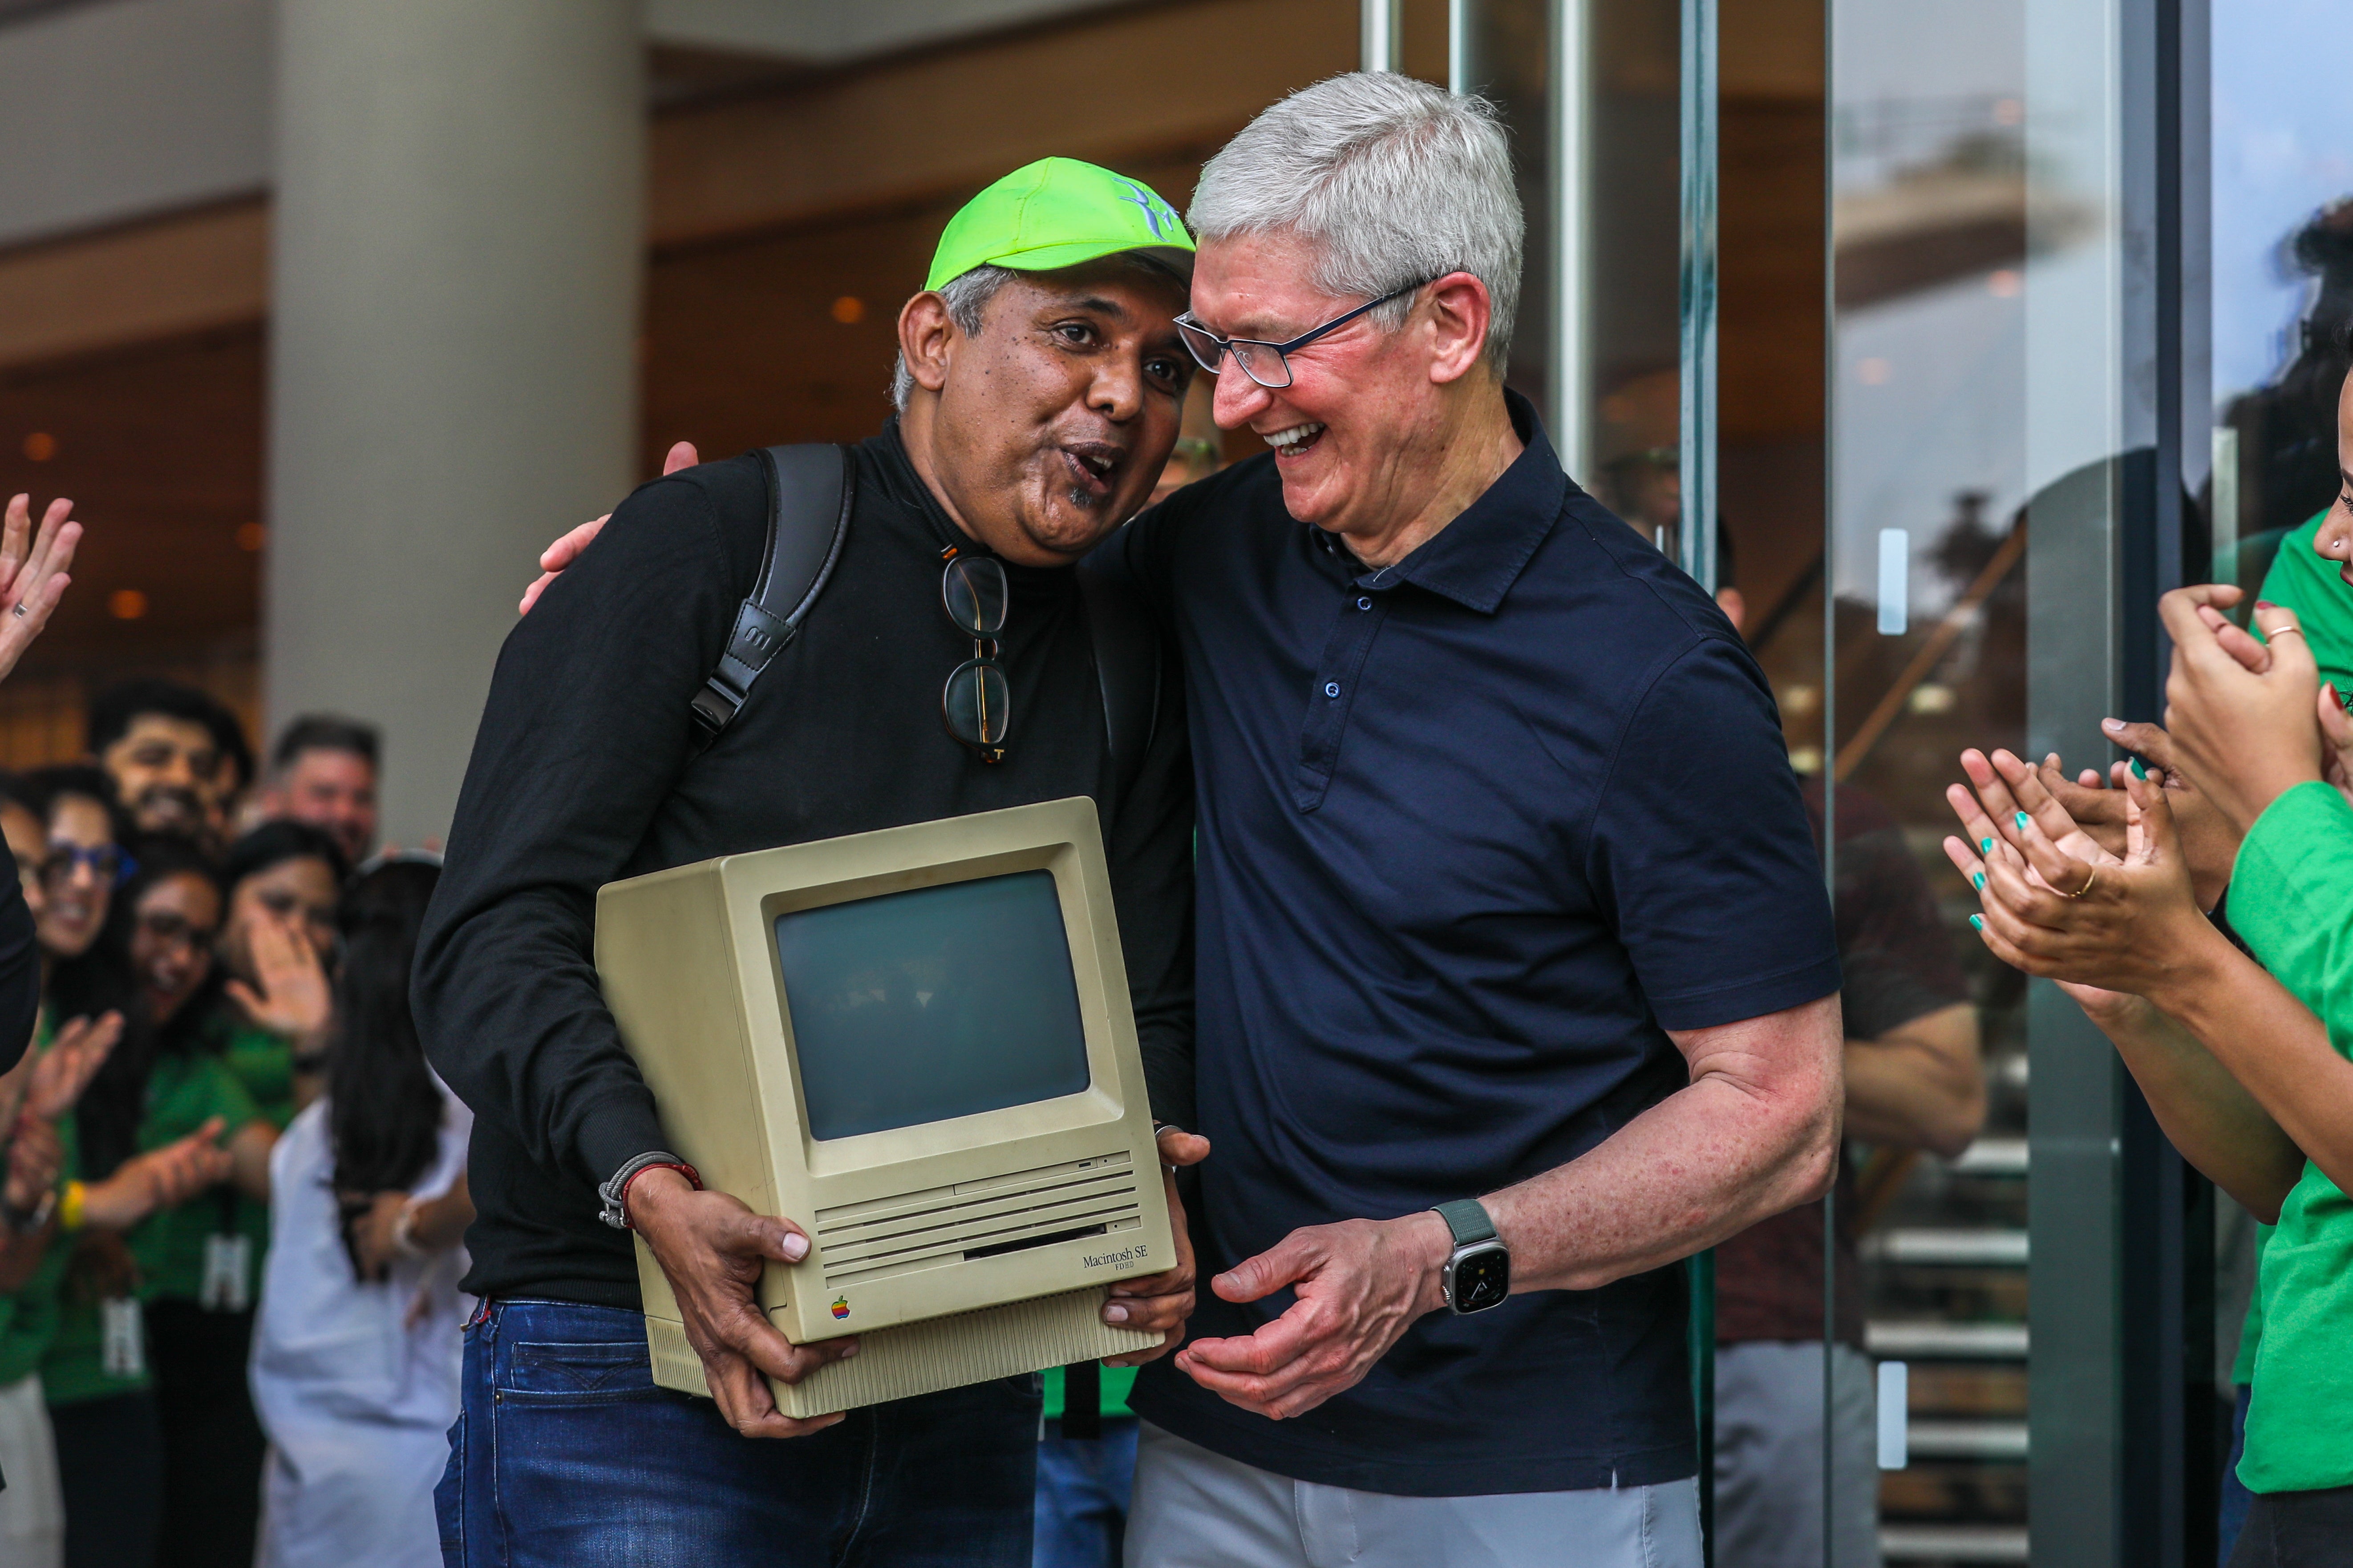
[[[955,327],[939,294],[899,315],[915,395],[901,433],[967,534],[1024,567],[1066,567],[1151,496],[1193,360],[1184,289],[1118,259],[1016,273]]]

